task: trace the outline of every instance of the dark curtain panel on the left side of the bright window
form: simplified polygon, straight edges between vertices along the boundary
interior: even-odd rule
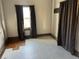
[[[24,40],[23,7],[21,5],[16,5],[15,7],[17,14],[18,36],[21,40]]]

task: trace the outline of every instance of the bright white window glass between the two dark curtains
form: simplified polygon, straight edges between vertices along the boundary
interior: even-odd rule
[[[30,8],[23,7],[24,29],[31,28]]]

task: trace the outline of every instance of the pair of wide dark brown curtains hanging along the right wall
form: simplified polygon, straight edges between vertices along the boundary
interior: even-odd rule
[[[77,1],[69,0],[60,3],[60,23],[58,45],[74,54],[77,27]]]

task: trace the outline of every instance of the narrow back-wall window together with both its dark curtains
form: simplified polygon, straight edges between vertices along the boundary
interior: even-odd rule
[[[18,36],[20,39],[36,38],[36,15],[34,6],[16,5]]]

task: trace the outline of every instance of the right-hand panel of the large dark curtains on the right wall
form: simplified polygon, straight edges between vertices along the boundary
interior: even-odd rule
[[[75,40],[76,40],[76,27],[77,27],[77,0],[68,1],[68,21],[66,33],[66,46],[65,48],[72,54],[75,53]]]

